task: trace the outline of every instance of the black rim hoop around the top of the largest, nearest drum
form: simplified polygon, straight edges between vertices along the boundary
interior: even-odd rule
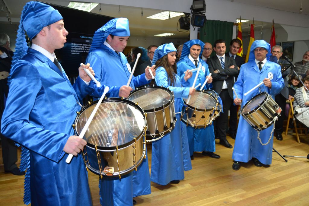
[[[135,105],[135,103],[133,103],[132,101],[130,101],[128,99],[118,98],[118,97],[109,97],[109,98],[103,99],[102,103],[104,103],[104,102],[115,102],[115,101],[116,102],[125,102],[125,103],[128,103],[129,105],[131,105],[133,107],[136,107],[136,109],[138,109],[142,113],[143,118],[144,118],[144,128],[146,127],[146,117],[145,117],[145,113],[144,113],[143,109],[140,106]],[[83,111],[85,111],[88,107],[90,107],[93,104],[96,104],[98,102],[99,102],[99,100],[96,100],[96,101],[91,102],[90,104],[87,104],[85,107],[83,107],[79,111],[79,114],[75,117],[74,124],[77,125],[76,122],[78,120],[78,117],[83,113]],[[76,130],[76,126],[74,127],[74,132],[75,132],[75,134],[77,136],[79,135],[77,130]],[[142,129],[141,133],[137,137],[135,137],[136,140],[139,140],[142,137],[143,133],[144,133],[144,129]],[[123,145],[118,145],[118,149],[122,149],[124,147],[127,147],[127,146],[133,144],[133,142],[134,142],[134,139],[129,141],[129,142],[127,142],[127,143],[125,143],[125,144],[123,144]],[[91,144],[89,142],[87,142],[87,146],[89,146],[91,148],[95,148],[95,145],[93,145],[93,144]],[[112,146],[112,147],[97,146],[97,148],[100,149],[100,150],[108,150],[108,151],[116,150],[116,146]]]

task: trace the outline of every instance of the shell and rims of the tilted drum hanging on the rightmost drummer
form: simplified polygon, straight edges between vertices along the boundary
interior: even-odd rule
[[[265,95],[266,93],[261,94]],[[254,96],[250,101],[248,101],[248,103],[261,94]],[[248,103],[246,103],[244,107],[246,107]],[[268,94],[265,96],[263,103],[259,104],[251,112],[244,113],[243,108],[241,109],[240,114],[256,130],[264,130],[273,125],[275,117],[280,116],[281,113],[281,108],[279,105]]]

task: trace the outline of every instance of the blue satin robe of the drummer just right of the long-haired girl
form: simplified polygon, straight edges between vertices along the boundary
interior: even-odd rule
[[[203,69],[200,69],[195,85],[198,85],[199,83],[201,83],[202,85],[206,80],[206,76],[209,75],[209,69],[206,62],[201,60],[199,64],[202,64],[201,68]],[[177,73],[181,75],[181,78],[184,77],[184,72],[187,71],[187,69],[196,69],[196,66],[188,57],[184,57],[183,60],[177,62]],[[196,74],[197,71],[193,72],[192,78],[188,79],[187,84],[184,84],[184,86],[192,86]],[[197,90],[201,90],[200,88],[201,86],[198,87]],[[203,89],[210,89],[210,88],[212,88],[212,83],[210,84],[206,83]],[[193,155],[193,152],[202,152],[202,151],[214,152],[216,150],[215,138],[214,138],[214,124],[211,124],[206,128],[197,128],[197,129],[188,125],[187,135],[188,135],[190,156]]]

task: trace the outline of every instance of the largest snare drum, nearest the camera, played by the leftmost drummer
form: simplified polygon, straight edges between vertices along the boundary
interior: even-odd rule
[[[74,130],[82,131],[98,101],[78,112]],[[127,99],[104,99],[84,136],[86,167],[101,177],[121,178],[146,158],[144,111]]]

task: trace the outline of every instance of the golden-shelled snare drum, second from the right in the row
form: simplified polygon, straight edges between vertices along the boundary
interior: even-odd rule
[[[212,123],[214,110],[218,102],[212,95],[205,91],[195,91],[191,96],[189,104],[184,99],[185,106],[181,111],[181,120],[187,125],[195,128],[206,128]]]

